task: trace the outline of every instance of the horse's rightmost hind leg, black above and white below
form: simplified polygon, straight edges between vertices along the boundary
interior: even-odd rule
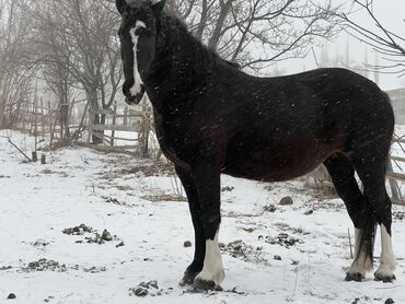
[[[371,160],[367,164],[360,163],[357,173],[381,230],[381,258],[374,278],[378,281],[392,282],[395,280],[393,271],[396,258],[392,246],[392,202],[385,188],[385,160],[379,163],[375,160]]]

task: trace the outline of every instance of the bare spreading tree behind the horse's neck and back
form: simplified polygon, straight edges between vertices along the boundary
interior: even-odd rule
[[[331,38],[338,31],[339,7],[320,7],[310,0],[170,0],[169,4],[209,48],[254,70],[302,57],[319,38]]]

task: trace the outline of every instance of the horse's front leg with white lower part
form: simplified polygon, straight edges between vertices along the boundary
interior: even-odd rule
[[[205,236],[205,257],[201,272],[194,280],[194,288],[212,290],[224,279],[221,252],[218,245],[220,214],[220,169],[210,161],[199,161],[192,169]]]

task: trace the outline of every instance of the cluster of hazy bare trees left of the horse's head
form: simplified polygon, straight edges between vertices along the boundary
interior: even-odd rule
[[[115,3],[0,0],[0,126],[16,115],[36,79],[57,97],[62,136],[69,136],[73,89],[85,93],[90,119],[104,124],[96,112],[112,106],[121,79]]]

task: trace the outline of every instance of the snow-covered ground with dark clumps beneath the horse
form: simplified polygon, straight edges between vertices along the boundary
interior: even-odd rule
[[[0,136],[31,154],[32,138]],[[223,176],[223,291],[194,293],[177,284],[194,233],[170,165],[82,148],[46,156],[46,165],[24,163],[0,138],[0,303],[405,303],[402,207],[393,224],[397,280],[369,273],[345,282],[352,226],[339,199],[297,180]],[[286,196],[292,204],[279,204]],[[144,297],[130,291],[150,281]],[[5,300],[11,293],[16,299]]]

